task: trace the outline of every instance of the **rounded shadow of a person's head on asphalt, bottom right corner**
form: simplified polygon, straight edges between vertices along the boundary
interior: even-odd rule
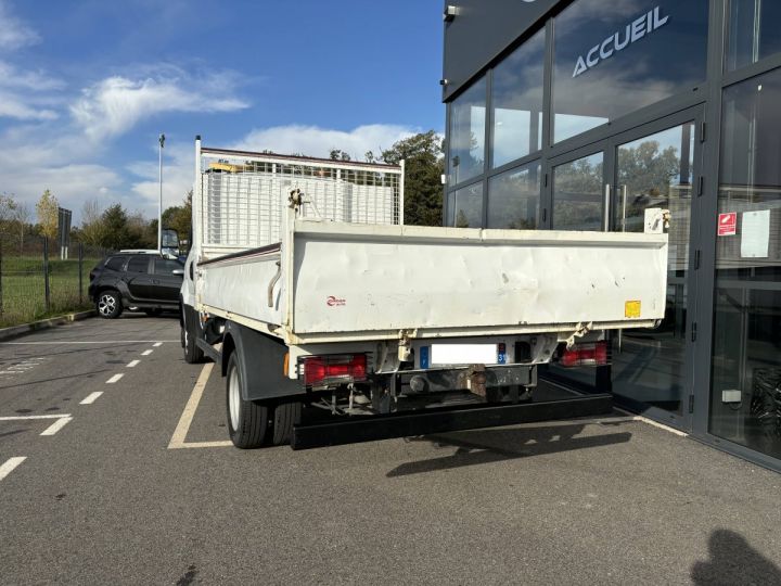
[[[752,548],[745,538],[730,530],[716,530],[708,539],[710,559],[692,566],[692,583],[781,584],[781,570]]]

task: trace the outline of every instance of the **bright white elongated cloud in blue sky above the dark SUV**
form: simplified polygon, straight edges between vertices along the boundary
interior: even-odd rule
[[[139,122],[165,112],[232,112],[248,106],[231,95],[229,76],[215,74],[203,79],[180,73],[179,77],[148,77],[133,80],[114,76],[82,90],[71,106],[74,119],[91,139],[116,137]]]

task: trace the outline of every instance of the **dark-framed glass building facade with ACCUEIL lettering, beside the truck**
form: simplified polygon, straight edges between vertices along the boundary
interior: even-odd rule
[[[781,469],[781,3],[541,4],[446,88],[446,225],[641,231],[670,209],[662,324],[613,334],[606,370],[545,375]]]

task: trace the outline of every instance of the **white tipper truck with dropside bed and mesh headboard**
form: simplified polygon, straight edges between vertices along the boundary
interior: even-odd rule
[[[664,317],[664,211],[645,233],[405,226],[404,165],[195,140],[184,358],[226,378],[240,448],[592,416],[535,400],[538,365],[603,366],[604,332]]]

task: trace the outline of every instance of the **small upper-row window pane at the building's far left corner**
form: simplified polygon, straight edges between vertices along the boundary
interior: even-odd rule
[[[486,81],[482,78],[450,106],[448,182],[468,181],[483,173],[485,161]]]

